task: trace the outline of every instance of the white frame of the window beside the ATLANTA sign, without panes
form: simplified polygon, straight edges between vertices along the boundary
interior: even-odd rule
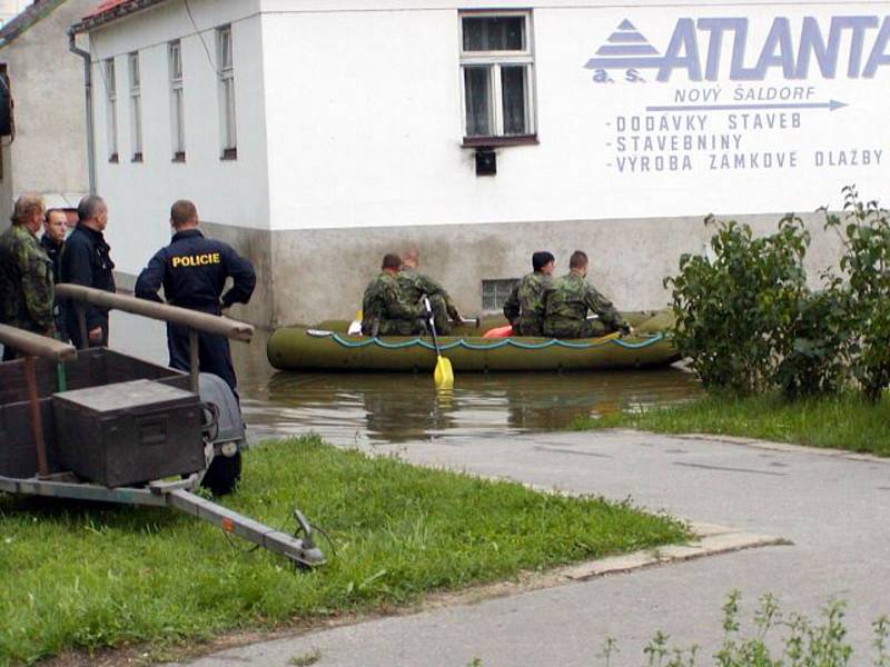
[[[494,51],[466,51],[464,49],[464,19],[467,18],[522,18],[523,38],[525,48],[522,50],[494,50]],[[535,84],[535,48],[534,48],[534,20],[530,9],[504,10],[462,10],[457,12],[458,40],[459,40],[459,68],[461,68],[461,127],[463,130],[463,146],[468,148],[515,146],[537,143],[537,94]],[[525,73],[525,122],[526,132],[506,135],[504,132],[504,90],[502,80],[503,67],[524,68]],[[468,68],[487,68],[488,98],[491,103],[492,133],[467,135],[467,96],[466,70]]]

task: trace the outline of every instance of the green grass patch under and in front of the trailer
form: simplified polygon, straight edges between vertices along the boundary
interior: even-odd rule
[[[0,663],[132,644],[158,650],[385,610],[688,537],[680,522],[627,504],[368,458],[314,437],[250,450],[226,504],[276,527],[298,506],[332,535],[336,557],[320,540],[330,563],[295,574],[171,510],[0,496]]]

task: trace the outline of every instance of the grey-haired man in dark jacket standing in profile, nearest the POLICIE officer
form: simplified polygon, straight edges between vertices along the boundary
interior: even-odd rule
[[[62,249],[61,281],[115,291],[115,262],[103,231],[108,226],[108,207],[101,197],[87,195],[77,207],[77,227]],[[108,310],[83,303],[87,317],[87,340],[81,339],[75,303],[66,305],[65,322],[76,347],[108,345]]]

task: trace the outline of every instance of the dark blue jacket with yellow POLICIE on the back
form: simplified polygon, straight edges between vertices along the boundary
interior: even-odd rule
[[[226,279],[233,286],[226,293]],[[172,242],[161,248],[136,280],[136,296],[160,301],[164,287],[168,303],[219,315],[220,308],[247,303],[254,293],[257,276],[248,260],[231,246],[207,239],[197,229],[174,235]]]

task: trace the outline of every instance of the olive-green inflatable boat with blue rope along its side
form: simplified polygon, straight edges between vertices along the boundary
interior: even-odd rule
[[[439,337],[442,355],[455,371],[595,370],[653,368],[680,360],[671,332],[673,313],[624,312],[630,336],[561,340],[511,336],[484,338],[503,319],[486,318]],[[436,365],[429,336],[350,336],[348,321],[276,329],[269,337],[269,364],[279,370],[432,370]]]

